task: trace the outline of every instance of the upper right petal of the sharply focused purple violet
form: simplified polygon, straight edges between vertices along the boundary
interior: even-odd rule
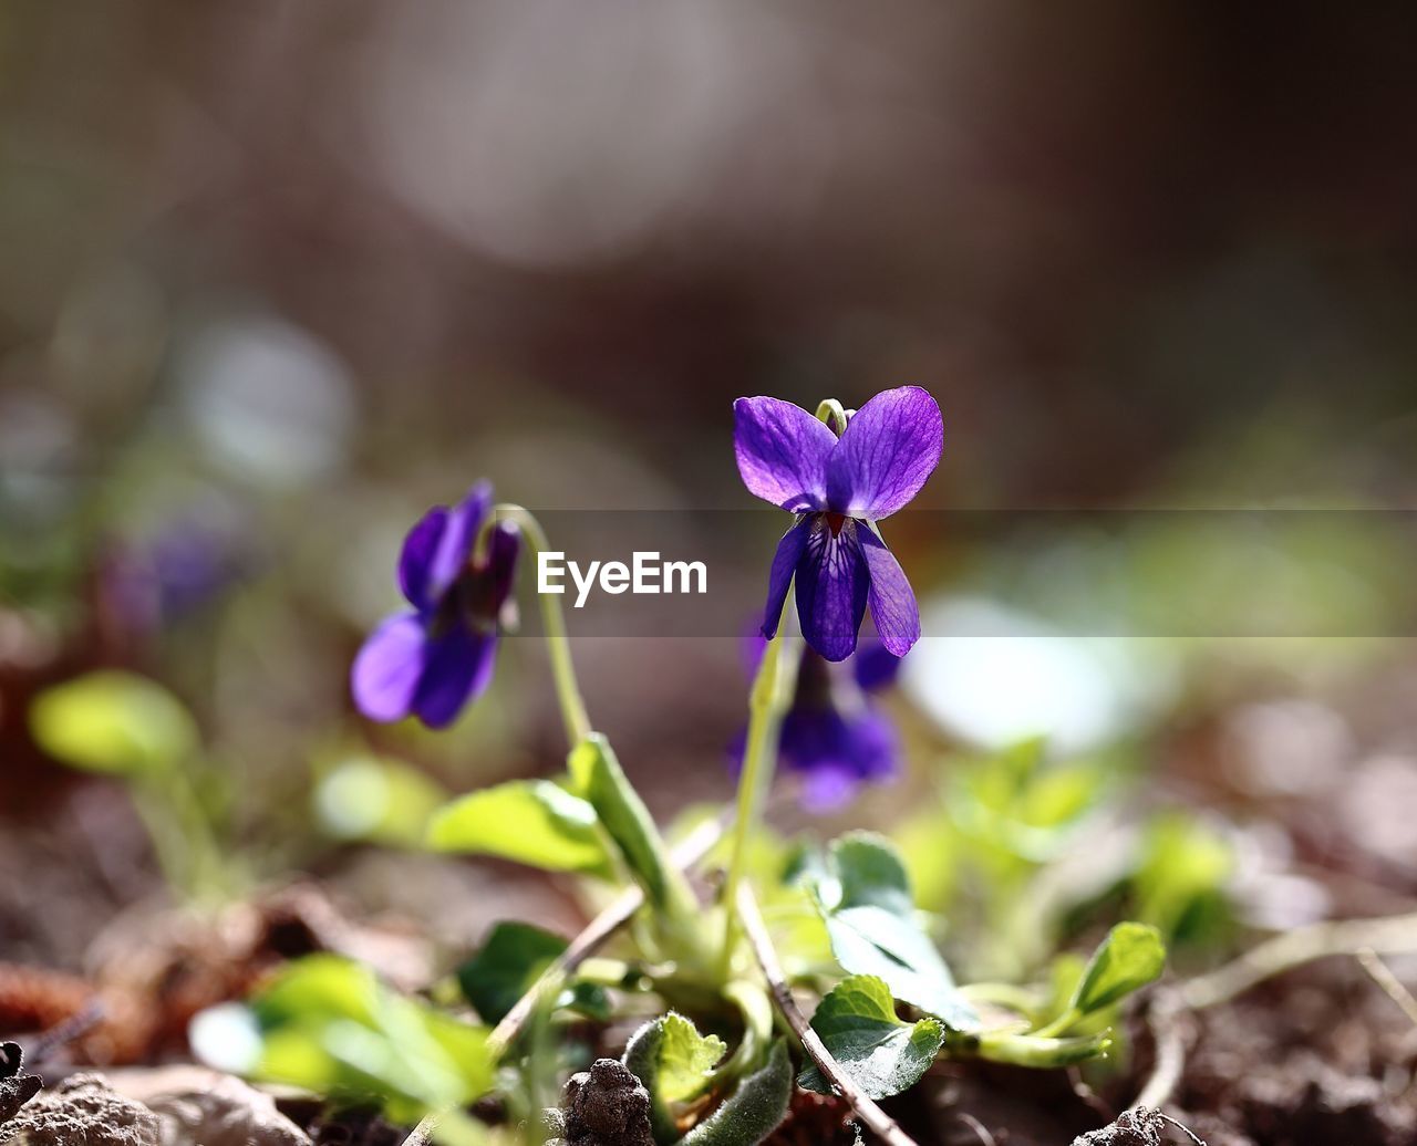
[[[833,513],[888,517],[910,501],[939,465],[945,425],[939,404],[918,385],[886,390],[863,405],[828,463]]]

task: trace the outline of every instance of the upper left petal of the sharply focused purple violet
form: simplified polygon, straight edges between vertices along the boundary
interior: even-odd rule
[[[836,435],[781,398],[733,404],[733,452],[748,490],[792,513],[826,509],[828,459]]]

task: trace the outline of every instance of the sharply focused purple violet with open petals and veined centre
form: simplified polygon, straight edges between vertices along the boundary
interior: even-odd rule
[[[939,462],[944,422],[935,399],[913,385],[883,391],[840,438],[778,398],[740,398],[733,412],[743,483],[798,514],[772,558],[762,635],[777,633],[795,574],[802,635],[818,653],[849,657],[870,603],[881,643],[904,656],[920,639],[920,609],[873,527],[905,506]]]

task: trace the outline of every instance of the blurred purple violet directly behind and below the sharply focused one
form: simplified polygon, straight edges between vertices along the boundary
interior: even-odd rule
[[[757,667],[765,643],[761,636],[750,637],[750,667]],[[898,671],[900,657],[879,640],[862,642],[840,667],[811,649],[803,652],[796,691],[782,717],[778,756],[802,776],[808,812],[839,809],[863,783],[894,779],[900,771],[896,727],[867,697],[890,686]],[[734,768],[743,764],[745,744],[747,731],[734,741]]]

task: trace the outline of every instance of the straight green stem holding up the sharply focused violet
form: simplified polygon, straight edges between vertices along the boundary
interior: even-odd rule
[[[792,601],[789,591],[778,616],[778,636],[762,650],[758,674],[752,680],[748,700],[748,745],[743,755],[743,772],[738,775],[738,817],[733,829],[733,853],[728,861],[728,877],[723,887],[724,929],[723,951],[718,959],[718,973],[728,980],[733,970],[733,956],[738,939],[738,885],[748,863],[748,841],[762,816],[762,802],[772,786],[772,773],[778,766],[778,735],[782,730],[782,714],[792,698],[796,684],[801,646],[792,642],[784,656],[782,618]]]

